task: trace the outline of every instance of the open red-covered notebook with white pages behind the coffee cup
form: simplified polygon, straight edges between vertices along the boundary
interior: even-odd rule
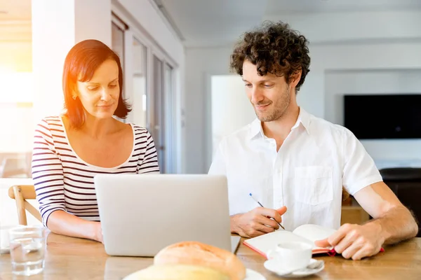
[[[333,248],[321,248],[314,245],[314,241],[329,237],[335,230],[324,228],[320,225],[300,225],[300,227],[288,232],[287,230],[277,230],[276,232],[267,233],[246,239],[243,244],[266,257],[267,251],[276,247],[281,241],[303,241],[313,246],[313,255],[327,253],[328,255],[336,255]],[[381,250],[383,251],[383,249]]]

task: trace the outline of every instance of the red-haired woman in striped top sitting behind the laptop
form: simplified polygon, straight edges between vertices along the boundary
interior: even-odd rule
[[[154,141],[138,125],[121,123],[120,59],[104,43],[86,40],[65,59],[66,113],[35,130],[32,179],[43,223],[52,232],[102,242],[95,174],[159,173]]]

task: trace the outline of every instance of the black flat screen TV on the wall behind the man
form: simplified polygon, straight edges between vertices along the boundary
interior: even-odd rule
[[[344,122],[358,139],[421,139],[421,94],[345,94]]]

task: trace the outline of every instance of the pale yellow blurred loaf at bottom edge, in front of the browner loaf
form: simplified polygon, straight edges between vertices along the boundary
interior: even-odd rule
[[[227,274],[195,265],[152,265],[124,280],[229,280]]]

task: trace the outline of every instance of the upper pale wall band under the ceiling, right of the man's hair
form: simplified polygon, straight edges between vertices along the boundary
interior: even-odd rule
[[[267,15],[263,20],[288,22],[311,43],[394,40],[421,37],[421,11],[368,11],[353,13],[290,13]]]

